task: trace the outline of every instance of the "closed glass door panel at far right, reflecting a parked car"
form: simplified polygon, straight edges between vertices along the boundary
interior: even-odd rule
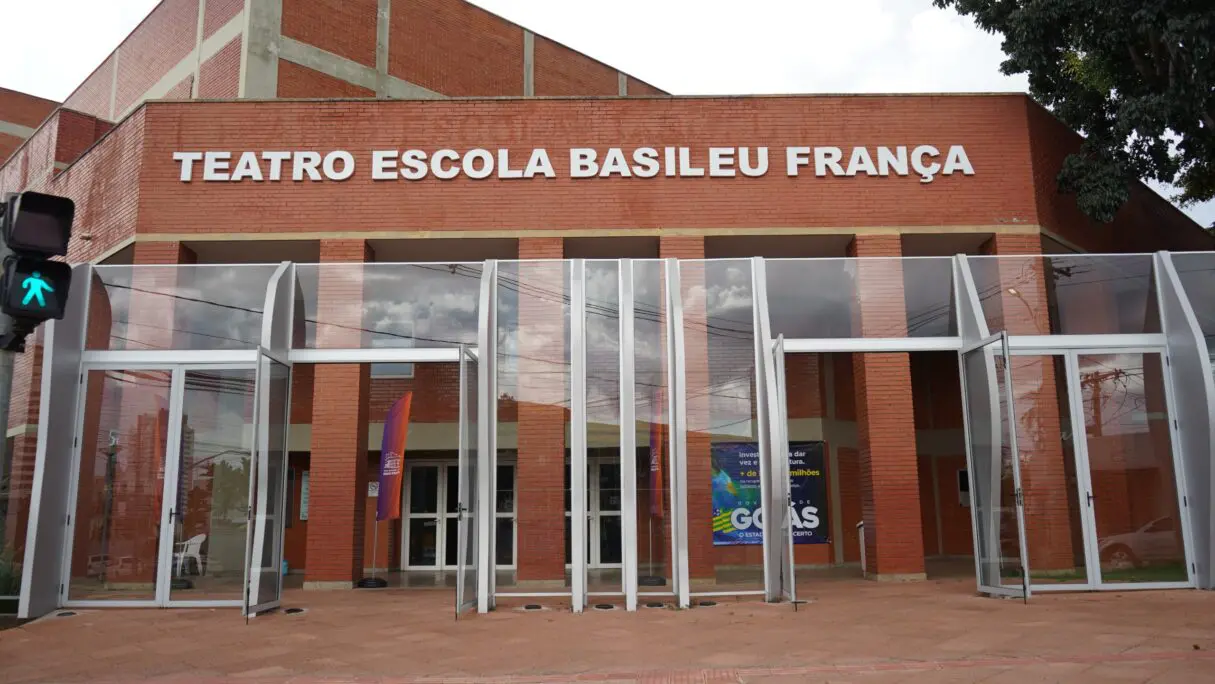
[[[1186,553],[1158,354],[1081,355],[1102,582],[1185,582]]]

